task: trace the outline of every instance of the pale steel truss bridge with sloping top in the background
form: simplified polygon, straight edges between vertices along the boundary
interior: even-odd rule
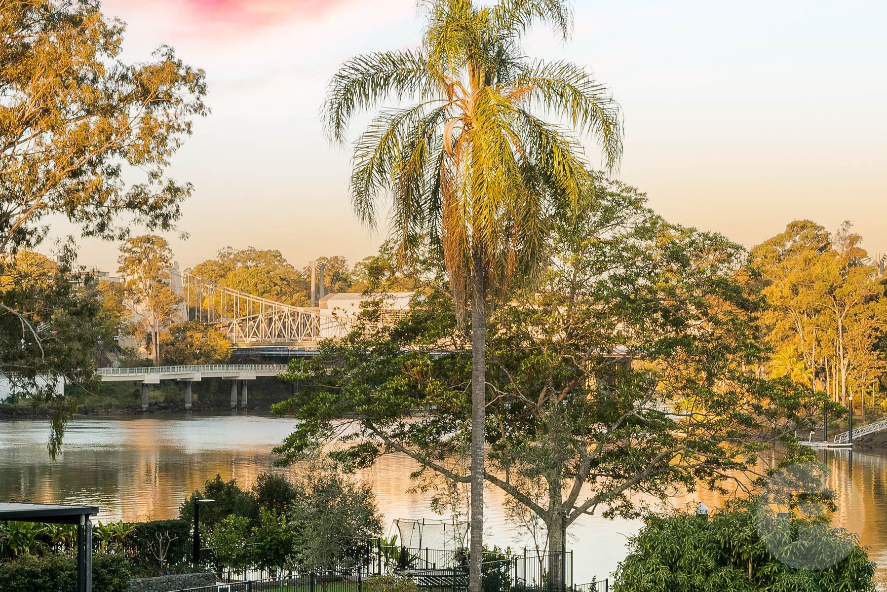
[[[171,269],[183,296],[183,318],[216,326],[235,347],[286,346],[312,349],[321,339],[344,336],[349,320],[326,309],[294,307],[260,298]],[[176,279],[181,280],[177,285]]]

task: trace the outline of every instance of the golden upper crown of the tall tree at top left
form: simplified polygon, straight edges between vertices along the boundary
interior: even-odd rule
[[[0,253],[39,243],[51,214],[105,238],[128,230],[120,214],[161,229],[178,218],[192,188],[164,173],[192,118],[208,113],[204,73],[166,46],[123,63],[124,28],[96,2],[0,7]]]

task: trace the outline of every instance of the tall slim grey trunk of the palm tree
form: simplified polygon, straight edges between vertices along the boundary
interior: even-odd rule
[[[483,445],[486,422],[487,317],[483,290],[483,256],[472,253],[471,281],[471,538],[468,589],[481,592],[483,563]]]

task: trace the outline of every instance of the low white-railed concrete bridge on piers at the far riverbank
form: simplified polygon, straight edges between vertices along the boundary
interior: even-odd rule
[[[184,382],[184,409],[192,406],[192,384],[203,378],[231,380],[231,408],[246,409],[248,384],[260,376],[278,376],[287,371],[286,364],[204,364],[200,366],[147,366],[144,368],[99,368],[102,382],[137,382],[142,385],[142,410],[148,409],[148,385],[159,385],[161,380]],[[238,388],[239,387],[239,388]]]

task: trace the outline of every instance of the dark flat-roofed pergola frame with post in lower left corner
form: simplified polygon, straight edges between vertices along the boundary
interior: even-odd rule
[[[77,592],[92,592],[92,520],[98,506],[0,502],[0,520],[77,526]]]

